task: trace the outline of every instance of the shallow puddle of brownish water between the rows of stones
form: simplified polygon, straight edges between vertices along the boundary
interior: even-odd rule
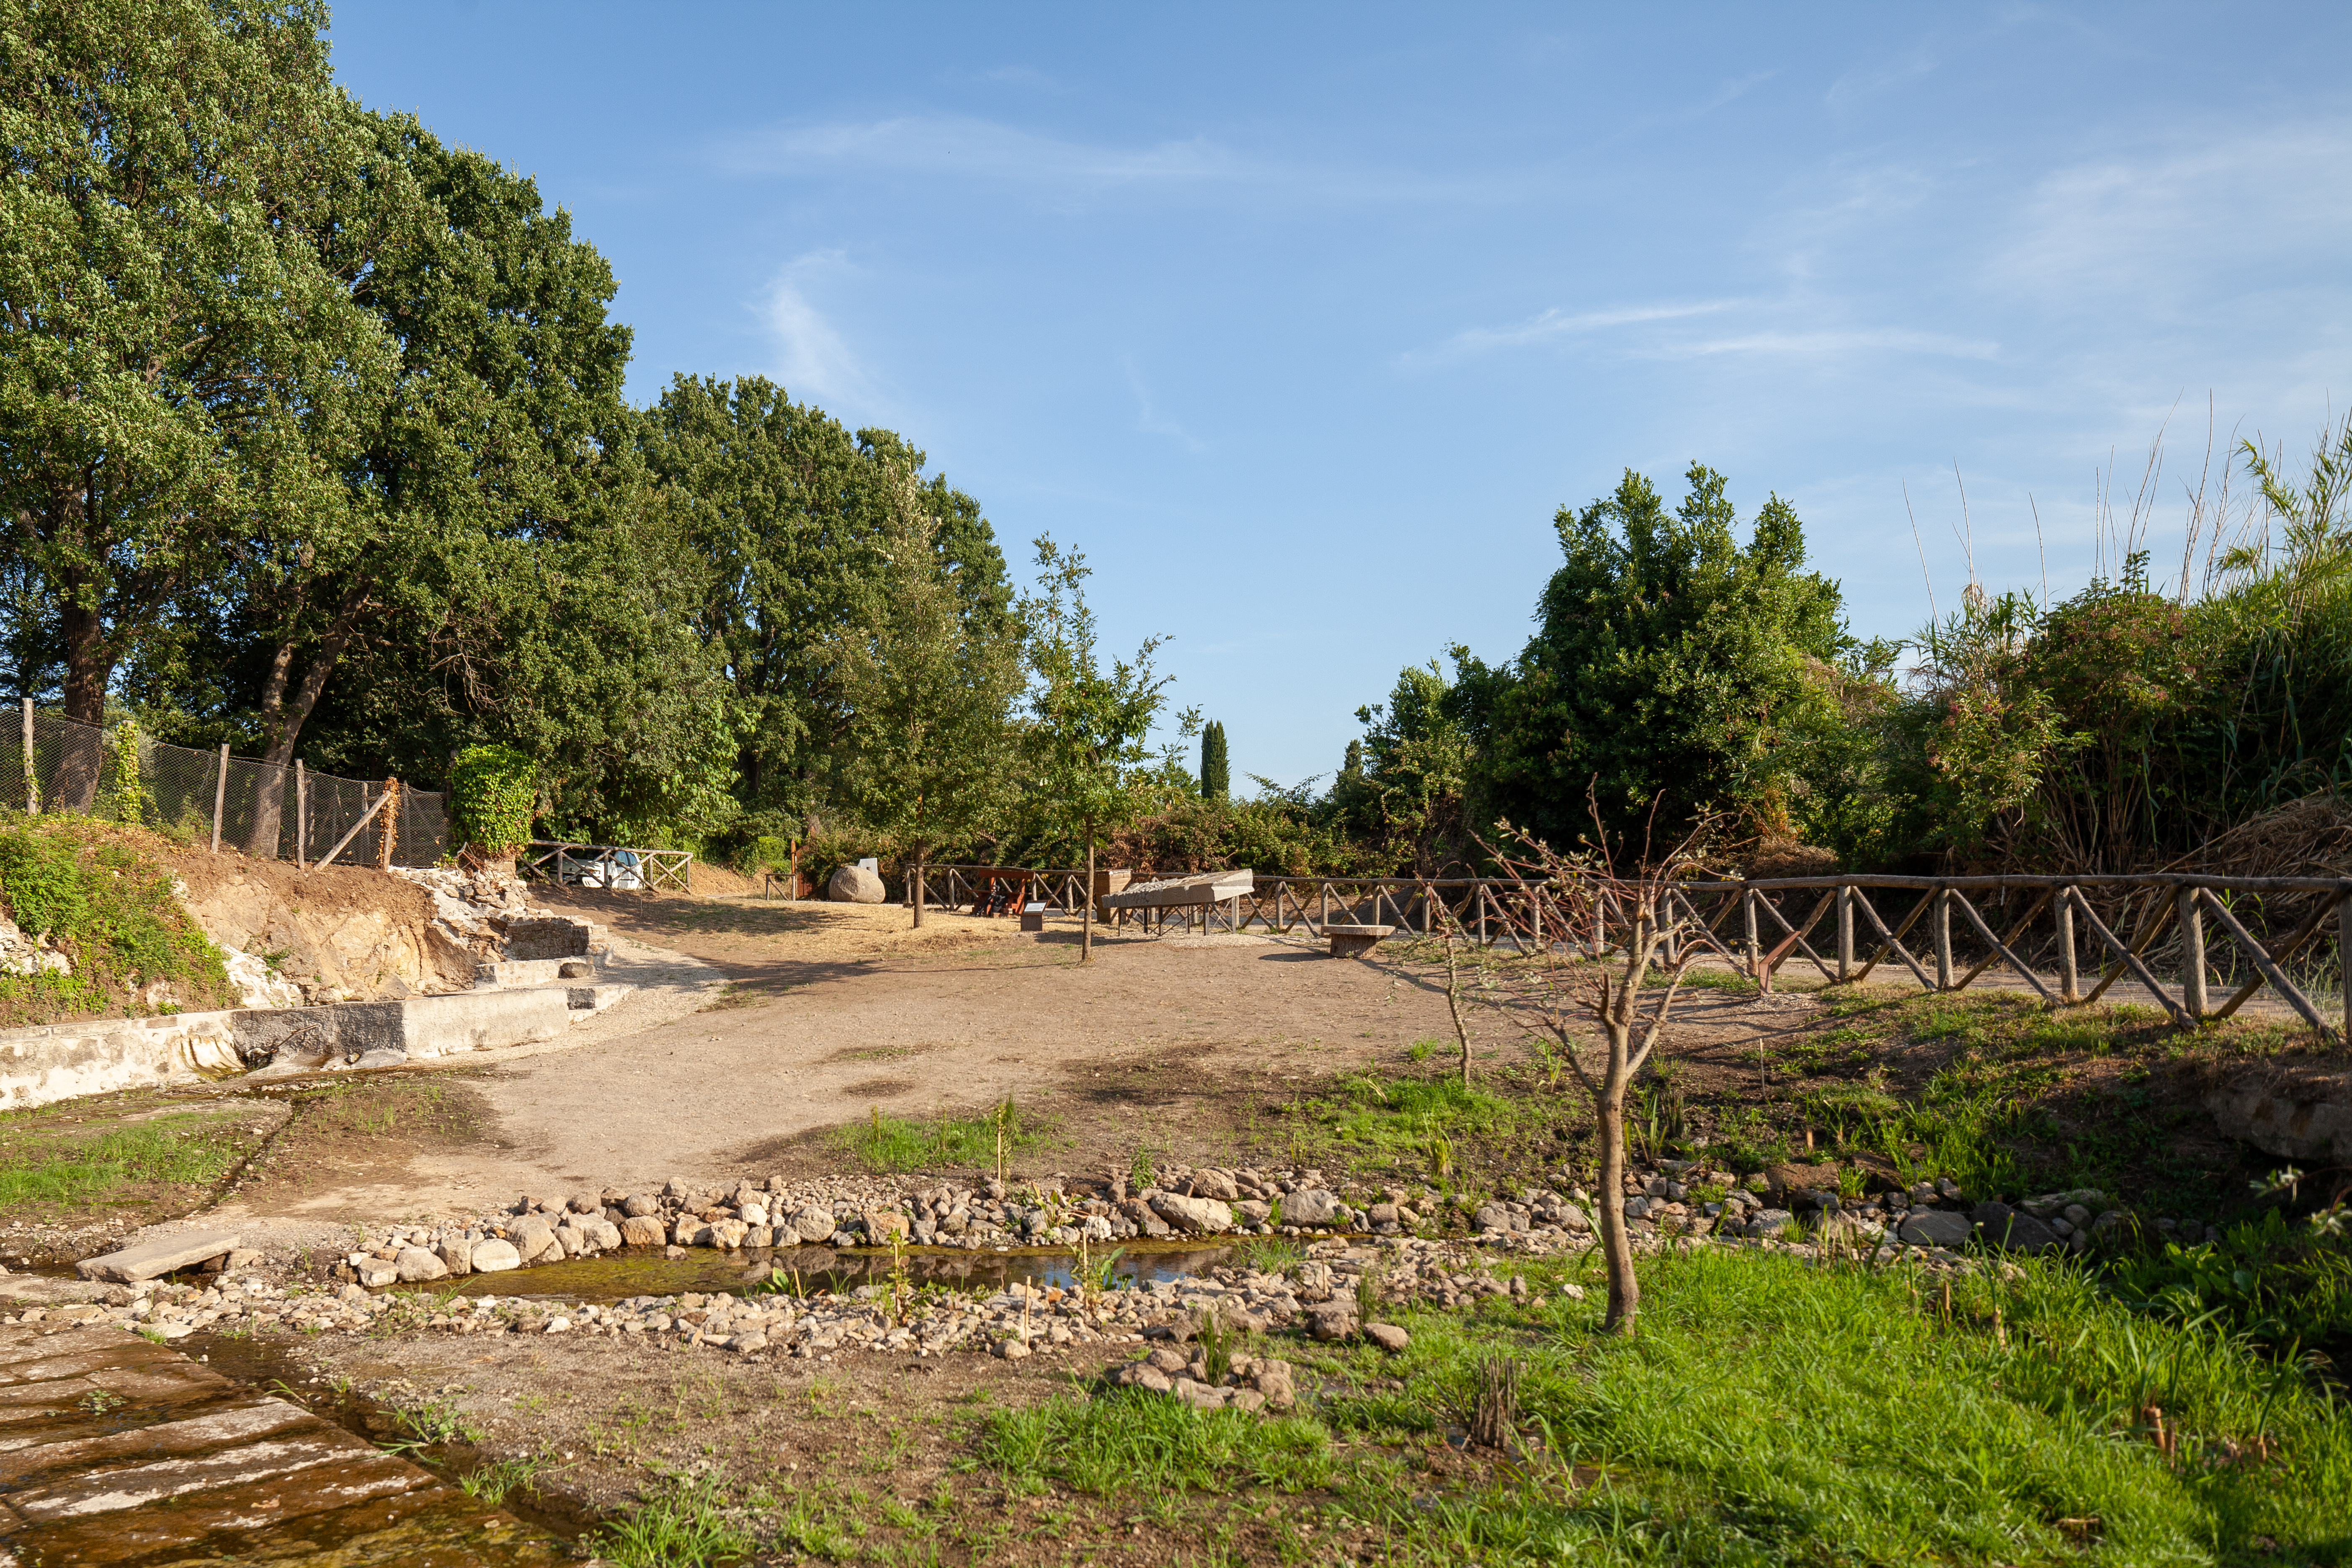
[[[1117,1248],[1110,1265],[1115,1279],[1129,1286],[1148,1286],[1157,1279],[1181,1279],[1202,1274],[1225,1262],[1230,1246],[1200,1246],[1195,1241],[1145,1241]],[[1110,1248],[1091,1255],[1096,1265],[1110,1258]],[[529,1269],[506,1269],[499,1274],[466,1274],[461,1279],[435,1279],[430,1284],[390,1286],[393,1291],[421,1291],[426,1295],[550,1295],[576,1302],[619,1302],[630,1295],[748,1295],[769,1286],[776,1269],[783,1269],[783,1291],[814,1295],[818,1291],[856,1291],[882,1284],[896,1267],[884,1251],[837,1251],[830,1246],[779,1246],[774,1251],[722,1253],[694,1248],[684,1258],[666,1258],[652,1248],[623,1248],[597,1258],[572,1258],[567,1262],[541,1262]],[[964,1248],[906,1248],[906,1274],[917,1286],[950,1286],[955,1291],[1002,1291],[1009,1284],[1033,1284],[1040,1288],[1068,1286],[1080,1267],[1080,1255],[1068,1248],[1037,1248],[1009,1253],[974,1253]]]

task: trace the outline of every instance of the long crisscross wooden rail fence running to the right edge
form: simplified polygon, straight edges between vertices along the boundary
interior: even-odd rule
[[[971,903],[988,867],[929,867],[931,900]],[[962,879],[960,879],[962,872]],[[1077,914],[1087,875],[1040,870],[1033,896]],[[1200,931],[1395,926],[1439,936],[1444,914],[1470,940],[1611,952],[1630,919],[1630,884],[1559,886],[1505,877],[1256,877],[1249,893],[1190,910],[1138,910]],[[1886,905],[1882,912],[1879,905]],[[2089,1004],[2117,983],[2145,990],[2176,1023],[2230,1018],[2272,992],[2324,1034],[2352,1039],[2352,879],[2336,877],[1780,877],[1677,882],[1684,940],[1771,990],[1790,961],[1835,985],[1896,969],[1931,992],[1966,990],[1992,969],[2051,1006]],[[1828,926],[1825,926],[1828,922]],[[1122,917],[1124,924],[1124,917]],[[1924,933],[1915,936],[1915,931]],[[1820,933],[1820,936],[1816,936]],[[1907,938],[1907,940],[1905,940]],[[1816,947],[1816,940],[1820,943]],[[1915,950],[1917,945],[1917,950]],[[2333,964],[2328,950],[2333,947]],[[2159,973],[2166,971],[2166,973]],[[2333,971],[2338,1011],[2312,999]],[[2300,973],[2300,978],[2298,978]],[[2220,983],[2216,990],[2216,980]]]

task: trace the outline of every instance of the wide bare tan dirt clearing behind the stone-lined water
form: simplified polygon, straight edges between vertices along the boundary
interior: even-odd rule
[[[593,900],[593,903],[590,903]],[[1282,1103],[1334,1072],[1395,1070],[1416,1041],[1451,1056],[1442,971],[1331,959],[1308,940],[1112,938],[927,922],[903,910],[590,896],[616,933],[717,966],[731,992],[699,1013],[468,1072],[480,1131],[388,1147],[299,1194],[254,1192],[216,1218],[433,1218],[602,1185],[840,1171],[826,1131],[882,1110],[976,1112],[1011,1095],[1054,1126],[1025,1171],[1127,1168],[1275,1138]],[[1804,997],[1696,992],[1691,1046],[1726,1063],[1804,1027]],[[1484,1065],[1524,1046],[1494,1016]]]

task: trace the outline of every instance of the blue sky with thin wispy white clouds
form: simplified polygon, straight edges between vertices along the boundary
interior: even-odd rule
[[[1788,496],[1903,635],[1924,576],[2063,595],[2133,527],[2176,576],[2232,440],[2300,456],[2352,393],[2345,5],[343,0],[332,38],[572,209],[635,400],[757,371],[901,430],[1018,571],[1087,552],[1112,644],[1174,637],[1237,780],[1329,773],[1404,663],[1512,656],[1555,508],[1628,465]]]

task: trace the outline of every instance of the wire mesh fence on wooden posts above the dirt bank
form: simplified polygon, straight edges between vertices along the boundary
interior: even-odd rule
[[[101,729],[61,712],[19,708],[0,743],[0,802],[12,811],[78,811],[155,827],[186,844],[242,849],[270,860],[435,865],[449,853],[449,804],[386,783],[167,745],[134,724]],[[390,846],[383,818],[397,825]]]

